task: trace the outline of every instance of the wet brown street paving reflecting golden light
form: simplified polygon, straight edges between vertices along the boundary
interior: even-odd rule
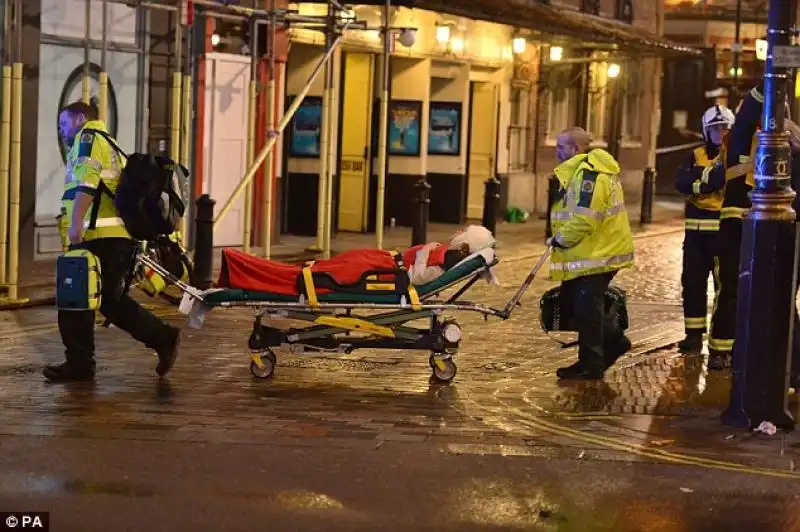
[[[275,377],[254,380],[252,316],[222,309],[186,330],[164,381],[111,328],[96,384],[45,385],[54,312],[2,313],[0,511],[86,531],[800,530],[800,439],[722,427],[729,376],[674,348],[681,240],[637,239],[617,278],[634,349],[600,383],[556,382],[575,350],[538,324],[546,280],[507,321],[458,316],[449,386],[402,351],[278,351]],[[502,286],[470,299],[502,305],[540,252],[504,250]]]

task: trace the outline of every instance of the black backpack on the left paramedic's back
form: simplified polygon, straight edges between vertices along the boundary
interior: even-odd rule
[[[102,136],[114,150],[127,159],[119,177],[116,193],[103,186],[102,192],[114,200],[119,217],[131,237],[156,241],[178,230],[186,212],[185,197],[189,171],[168,157],[148,153],[126,154],[110,135],[96,129],[85,132]],[[95,198],[89,227],[94,227],[100,195]]]

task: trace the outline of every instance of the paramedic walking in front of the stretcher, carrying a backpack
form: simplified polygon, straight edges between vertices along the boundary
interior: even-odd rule
[[[180,329],[142,308],[127,293],[125,279],[137,243],[131,239],[114,206],[112,194],[124,168],[124,157],[102,134],[105,124],[94,107],[76,102],[61,110],[58,129],[69,148],[62,201],[66,242],[72,249],[89,250],[100,263],[100,312],[158,355],[156,373],[165,375],[175,362]],[[59,310],[58,329],[66,361],[46,366],[51,382],[91,381],[95,374],[94,311]]]

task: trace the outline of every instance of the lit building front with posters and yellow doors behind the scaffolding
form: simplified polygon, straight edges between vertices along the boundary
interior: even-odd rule
[[[64,168],[57,111],[80,98],[87,46],[91,95],[96,99],[98,74],[105,67],[109,127],[122,147],[165,153],[172,148],[175,28],[188,22],[178,18],[185,14],[109,0],[102,65],[102,3],[93,4],[86,41],[83,0],[24,3],[22,263],[59,252],[54,217]],[[325,4],[283,0],[238,4],[275,5],[300,15],[326,10]],[[368,28],[346,32],[333,55],[334,231],[375,230],[377,102],[384,68],[377,28],[383,4],[365,0],[350,6],[349,16]],[[695,53],[660,37],[660,2],[400,0],[393,6],[391,26],[416,31],[413,43],[393,41],[388,65],[385,225],[411,223],[420,182],[431,187],[431,222],[480,220],[485,182],[493,177],[502,183],[502,207],[544,212],[547,178],[556,164],[555,136],[572,125],[584,126],[595,146],[618,156],[629,201],[638,200],[642,169],[653,164],[660,57]],[[219,209],[247,171],[251,80],[257,82],[253,136],[258,151],[267,142],[267,109],[273,109],[277,123],[322,58],[324,35],[294,26],[277,32],[276,92],[268,102],[266,32],[256,38],[253,51],[248,22],[200,10],[192,15],[179,39],[180,68],[191,86],[185,101],[192,109],[190,125],[181,125],[183,146],[193,198],[208,193]],[[271,211],[264,201],[262,168],[248,196],[251,225],[246,227],[243,196],[219,224],[217,245],[239,246],[244,233],[258,245],[267,215],[273,216],[276,237],[315,234],[322,89],[320,76],[276,146]]]

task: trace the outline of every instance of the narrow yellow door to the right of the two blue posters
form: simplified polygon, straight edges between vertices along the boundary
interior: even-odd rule
[[[497,147],[496,83],[470,83],[470,132],[467,177],[467,219],[483,217],[483,196],[486,180],[495,173]]]

